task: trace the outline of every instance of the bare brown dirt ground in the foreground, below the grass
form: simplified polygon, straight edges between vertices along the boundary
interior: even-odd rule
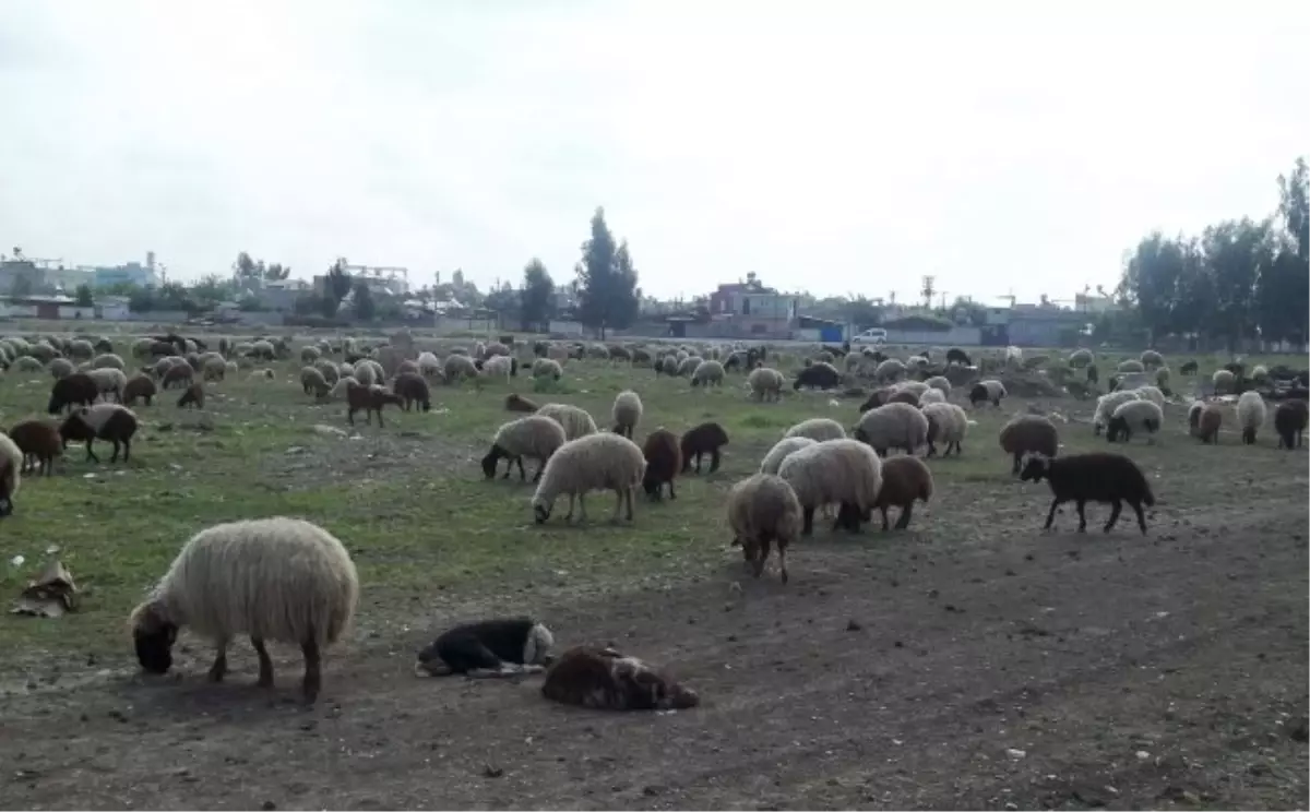
[[[1087,536],[1072,509],[1041,534],[1044,487],[956,481],[916,520],[931,536],[820,532],[789,587],[741,579],[726,550],[700,578],[531,606],[565,646],[667,663],[700,690],[692,711],[414,677],[453,618],[367,633],[309,710],[299,661],[282,651],[262,693],[245,643],[223,686],[193,644],[179,684],[9,695],[3,808],[1310,807],[1306,478],[1205,465],[1172,473],[1186,504],[1158,486],[1145,538],[1100,533],[1106,508]],[[507,591],[487,608],[529,608]]]

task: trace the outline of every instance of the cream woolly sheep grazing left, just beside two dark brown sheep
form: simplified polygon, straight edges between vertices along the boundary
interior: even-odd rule
[[[613,521],[618,521],[618,509],[627,503],[627,520],[633,520],[633,495],[646,475],[646,457],[642,449],[627,437],[614,434],[590,434],[576,440],[569,440],[550,456],[541,474],[537,492],[532,496],[532,511],[537,524],[550,519],[555,499],[569,495],[569,513],[565,521],[572,520],[574,498],[578,500],[579,521],[587,519],[587,492],[612,490],[618,496],[614,503]]]

